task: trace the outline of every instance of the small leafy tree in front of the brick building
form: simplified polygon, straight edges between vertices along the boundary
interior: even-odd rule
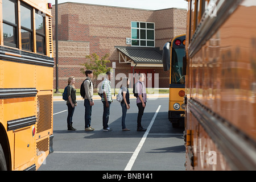
[[[97,55],[97,53],[92,53],[92,55],[85,56],[88,61],[84,64],[81,64],[85,68],[81,68],[80,71],[85,74],[86,69],[90,69],[93,71],[93,81],[96,85],[96,80],[98,75],[101,73],[106,73],[110,71],[111,68],[107,68],[106,64],[110,63],[110,60],[108,60],[109,54],[106,53],[103,57],[100,57]],[[94,86],[96,88],[96,86]]]

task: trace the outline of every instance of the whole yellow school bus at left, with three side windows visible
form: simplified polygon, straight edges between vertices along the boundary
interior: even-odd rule
[[[53,152],[53,40],[47,0],[0,0],[0,171]]]

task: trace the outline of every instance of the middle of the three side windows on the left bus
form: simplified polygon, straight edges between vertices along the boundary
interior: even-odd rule
[[[32,10],[26,5],[20,5],[20,24],[22,49],[32,51]]]

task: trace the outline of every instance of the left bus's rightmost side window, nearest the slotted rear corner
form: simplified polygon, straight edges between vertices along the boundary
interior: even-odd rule
[[[38,12],[35,14],[36,28],[36,52],[46,54],[46,33],[45,33],[45,17]]]

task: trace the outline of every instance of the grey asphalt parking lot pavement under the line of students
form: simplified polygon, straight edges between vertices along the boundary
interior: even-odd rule
[[[148,96],[142,126],[137,131],[138,107],[131,98],[126,127],[122,131],[122,109],[118,101],[110,106],[109,127],[102,130],[103,106],[94,97],[91,126],[84,131],[84,101],[78,99],[73,127],[67,130],[67,105],[55,97],[53,102],[53,150],[39,171],[183,171],[185,170],[184,128],[174,129],[168,121],[168,96]]]

